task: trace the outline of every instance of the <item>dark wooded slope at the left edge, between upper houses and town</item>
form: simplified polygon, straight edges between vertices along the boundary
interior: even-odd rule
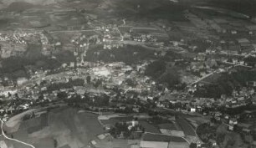
[[[57,59],[50,59],[41,54],[41,46],[29,44],[28,50],[22,57],[10,57],[2,60],[0,75],[7,75],[9,78],[29,77],[27,69],[33,72],[38,69],[57,69],[62,63],[74,61],[74,55],[69,51],[62,51],[54,54]]]

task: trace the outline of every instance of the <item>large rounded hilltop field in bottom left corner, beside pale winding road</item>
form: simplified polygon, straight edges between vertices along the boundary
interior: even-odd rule
[[[23,140],[37,148],[54,148],[69,145],[70,147],[87,147],[96,135],[104,133],[103,127],[97,120],[97,115],[80,112],[68,108],[49,111],[38,118],[25,120],[17,132],[9,134],[15,139]],[[55,141],[55,142],[54,142]],[[27,148],[25,145],[8,141],[8,145]]]

